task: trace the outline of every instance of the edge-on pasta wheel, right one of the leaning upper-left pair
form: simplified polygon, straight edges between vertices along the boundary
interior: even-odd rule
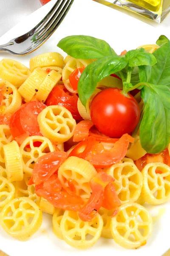
[[[45,102],[49,93],[54,88],[54,86],[59,82],[60,79],[61,75],[56,71],[51,70],[42,82],[42,84],[40,85],[36,93],[36,99],[40,102]]]

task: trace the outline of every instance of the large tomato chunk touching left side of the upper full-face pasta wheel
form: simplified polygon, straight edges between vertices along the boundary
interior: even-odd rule
[[[45,104],[32,101],[23,104],[14,114],[12,114],[9,126],[12,136],[20,137],[28,133],[29,136],[40,135],[40,128],[37,122],[38,114],[46,108]]]

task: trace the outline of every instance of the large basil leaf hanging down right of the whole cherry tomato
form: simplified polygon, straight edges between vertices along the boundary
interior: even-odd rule
[[[142,148],[147,153],[163,151],[170,143],[170,89],[149,84],[141,90],[144,115],[140,125]]]

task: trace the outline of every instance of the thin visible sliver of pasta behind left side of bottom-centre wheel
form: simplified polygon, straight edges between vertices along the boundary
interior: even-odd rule
[[[53,233],[59,238],[63,239],[61,228],[60,228],[60,223],[64,214],[63,209],[55,209],[54,215],[53,215],[53,221],[52,221],[52,226],[53,226]]]

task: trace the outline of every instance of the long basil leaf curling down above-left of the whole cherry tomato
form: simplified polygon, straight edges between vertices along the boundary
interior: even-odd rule
[[[103,78],[116,73],[127,65],[127,59],[122,56],[108,56],[88,65],[80,76],[78,83],[79,99],[86,107],[87,100],[96,89],[97,83]]]

